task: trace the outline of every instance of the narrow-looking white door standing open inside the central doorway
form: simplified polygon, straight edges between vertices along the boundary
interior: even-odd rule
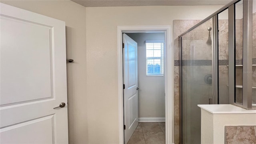
[[[127,144],[138,126],[138,59],[137,43],[123,34],[124,73],[124,143]]]

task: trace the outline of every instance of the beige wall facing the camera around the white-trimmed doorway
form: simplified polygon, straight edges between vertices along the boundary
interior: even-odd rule
[[[119,140],[117,26],[172,25],[173,28],[173,20],[175,19],[204,19],[221,7],[132,6],[86,8],[89,143],[117,144]],[[172,41],[174,41],[173,38]]]

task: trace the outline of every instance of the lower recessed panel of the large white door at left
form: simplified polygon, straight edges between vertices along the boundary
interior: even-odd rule
[[[54,129],[54,115],[38,118],[14,126],[1,129],[1,144],[52,144]]]

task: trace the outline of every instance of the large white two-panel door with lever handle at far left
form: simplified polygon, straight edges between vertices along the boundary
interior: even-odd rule
[[[68,144],[65,22],[0,8],[0,143]]]

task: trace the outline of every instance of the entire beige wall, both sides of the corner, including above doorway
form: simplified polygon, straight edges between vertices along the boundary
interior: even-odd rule
[[[119,142],[117,26],[173,26],[174,19],[204,19],[221,8],[221,6],[85,8],[69,0],[1,0],[1,2],[66,22],[67,58],[74,59],[74,63],[67,66],[70,144],[118,144]]]

